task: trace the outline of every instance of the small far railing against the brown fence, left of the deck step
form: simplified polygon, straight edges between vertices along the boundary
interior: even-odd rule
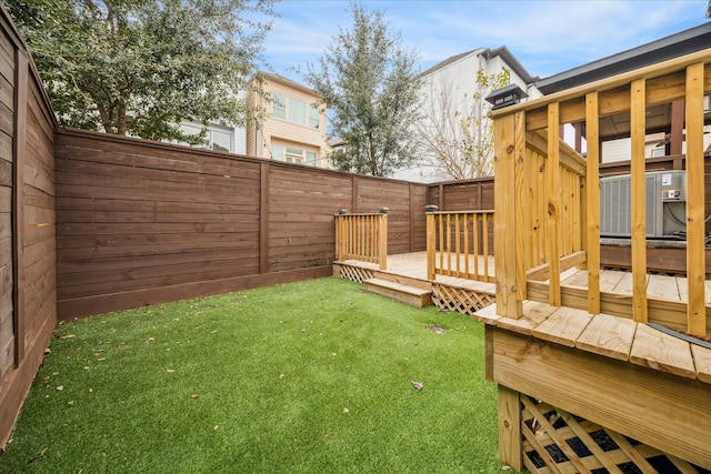
[[[336,215],[336,259],[388,268],[388,214]]]

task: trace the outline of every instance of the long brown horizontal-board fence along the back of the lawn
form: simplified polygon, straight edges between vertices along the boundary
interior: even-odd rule
[[[78,130],[54,153],[59,319],[331,274],[339,209],[424,250],[423,184]]]

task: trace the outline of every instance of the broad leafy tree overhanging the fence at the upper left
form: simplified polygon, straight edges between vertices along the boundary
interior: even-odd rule
[[[4,1],[60,124],[198,143],[181,121],[246,123],[276,0]]]

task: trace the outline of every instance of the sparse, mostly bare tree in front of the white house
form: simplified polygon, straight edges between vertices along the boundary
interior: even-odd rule
[[[417,122],[417,142],[433,159],[434,168],[444,177],[464,180],[493,173],[493,122],[484,98],[509,84],[511,72],[487,74],[477,71],[474,92],[457,98],[455,88],[429,82],[423,93],[423,118]]]

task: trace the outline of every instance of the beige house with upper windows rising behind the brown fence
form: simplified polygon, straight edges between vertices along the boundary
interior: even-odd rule
[[[247,127],[247,155],[332,168],[322,97],[289,79],[258,72],[248,104],[262,117]]]

